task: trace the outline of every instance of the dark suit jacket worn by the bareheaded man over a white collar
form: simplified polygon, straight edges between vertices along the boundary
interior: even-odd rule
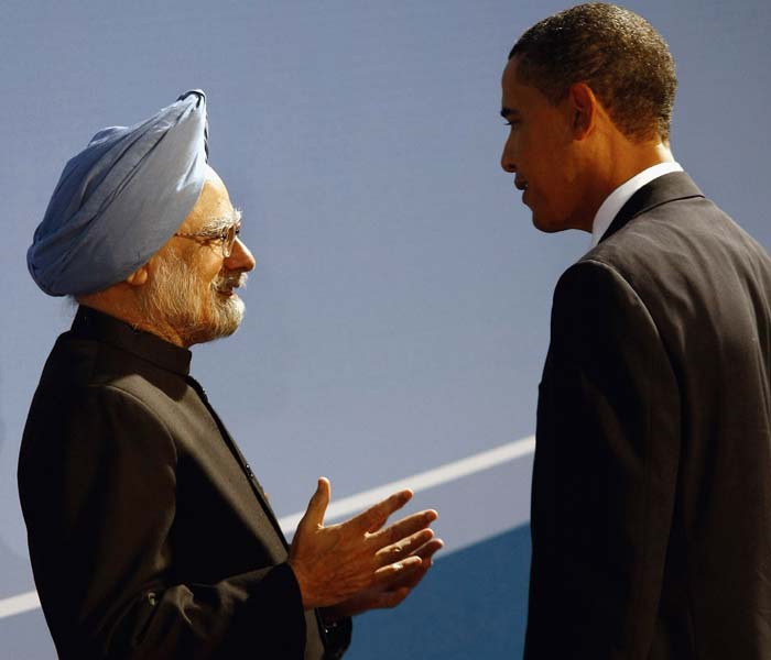
[[[771,260],[687,175],[560,279],[528,660],[771,658]]]

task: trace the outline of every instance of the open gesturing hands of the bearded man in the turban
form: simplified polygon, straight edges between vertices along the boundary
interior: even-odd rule
[[[329,497],[329,482],[321,477],[290,549],[303,606],[328,607],[365,592],[383,597],[394,588],[409,593],[411,581],[422,578],[424,556],[431,565],[431,556],[438,549],[428,546],[434,536],[428,525],[436,519],[436,512],[412,514],[383,528],[389,516],[412,497],[411,491],[401,491],[350,520],[325,527]]]

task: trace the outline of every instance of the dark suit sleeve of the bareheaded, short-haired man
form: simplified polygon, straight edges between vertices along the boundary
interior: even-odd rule
[[[634,288],[561,278],[539,394],[525,658],[647,658],[680,462],[680,395]]]

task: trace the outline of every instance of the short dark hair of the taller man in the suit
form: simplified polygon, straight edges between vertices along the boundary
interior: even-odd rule
[[[551,103],[586,82],[629,139],[670,139],[677,76],[664,38],[616,4],[578,4],[540,21],[509,53],[517,75]]]

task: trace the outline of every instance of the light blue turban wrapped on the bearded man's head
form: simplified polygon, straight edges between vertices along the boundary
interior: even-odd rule
[[[51,296],[126,279],[180,228],[206,177],[206,96],[183,94],[133,127],[99,131],[62,172],[26,263]]]

